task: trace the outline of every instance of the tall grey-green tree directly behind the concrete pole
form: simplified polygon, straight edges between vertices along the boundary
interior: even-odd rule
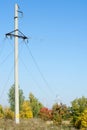
[[[21,110],[21,105],[24,102],[24,95],[22,89],[19,89],[19,110]],[[10,103],[10,108],[12,111],[15,110],[15,86],[12,85],[11,88],[9,89],[8,93],[8,100]]]

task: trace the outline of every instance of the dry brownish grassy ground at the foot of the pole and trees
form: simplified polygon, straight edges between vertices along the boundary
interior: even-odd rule
[[[0,120],[0,130],[70,130],[63,129],[54,125],[46,125],[40,119],[21,120],[20,124],[16,125],[12,120]]]

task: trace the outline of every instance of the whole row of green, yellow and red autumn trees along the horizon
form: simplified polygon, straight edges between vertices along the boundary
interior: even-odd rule
[[[10,107],[3,108],[0,105],[0,118],[14,119],[15,109],[15,88],[14,85],[8,93]],[[51,121],[55,125],[73,126],[78,129],[87,128],[87,98],[76,98],[71,102],[71,106],[55,103],[52,109],[44,107],[38,99],[29,94],[29,99],[25,100],[23,91],[19,89],[20,118],[41,118],[44,121]]]

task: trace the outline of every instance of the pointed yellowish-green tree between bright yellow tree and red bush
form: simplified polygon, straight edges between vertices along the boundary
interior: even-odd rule
[[[43,107],[43,105],[38,101],[36,97],[34,97],[32,93],[29,94],[29,101],[33,112],[33,116],[38,117],[40,109]]]

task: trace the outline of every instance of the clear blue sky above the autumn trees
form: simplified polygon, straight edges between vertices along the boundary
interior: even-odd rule
[[[19,30],[30,37],[19,40],[19,85],[26,99],[32,92],[44,105],[87,97],[87,0],[3,0],[0,3],[0,104],[8,104],[14,83],[14,5],[18,3]],[[44,76],[44,78],[41,76]]]

